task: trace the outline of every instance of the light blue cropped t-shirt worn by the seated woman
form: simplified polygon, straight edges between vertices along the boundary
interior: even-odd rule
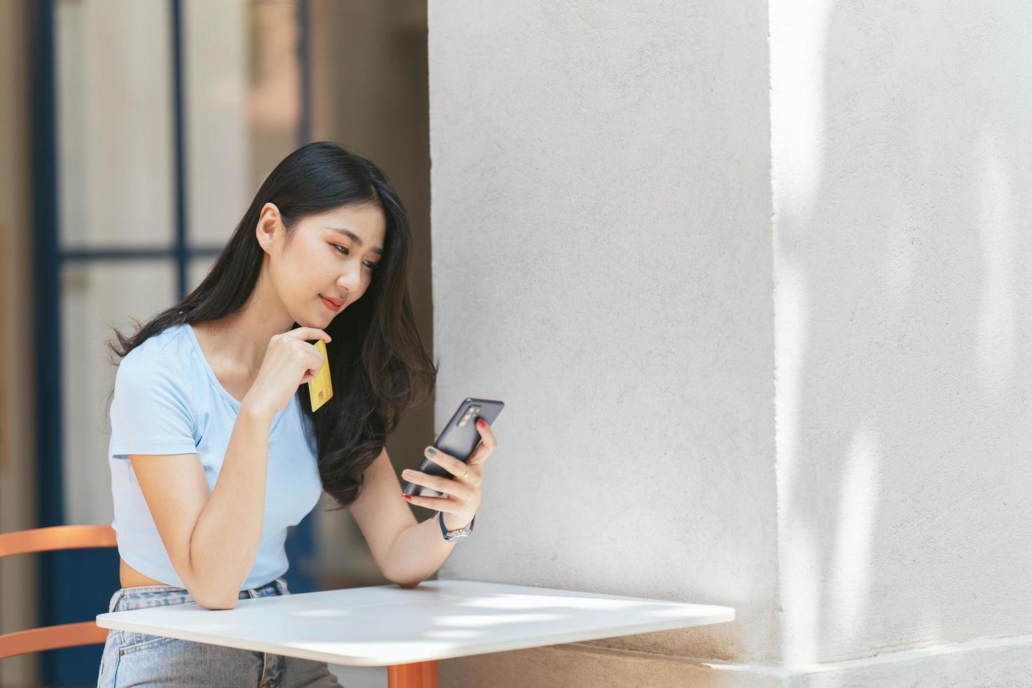
[[[158,534],[129,455],[195,453],[211,492],[239,407],[215,376],[188,324],[151,336],[119,363],[107,452],[115,498],[111,526],[119,554],[144,576],[186,588]],[[304,432],[311,427],[296,395],[272,417],[261,544],[244,589],[287,571],[287,527],[297,525],[322,494],[315,438]]]

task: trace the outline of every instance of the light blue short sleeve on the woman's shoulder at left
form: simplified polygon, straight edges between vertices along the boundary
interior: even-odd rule
[[[195,423],[182,375],[168,361],[146,354],[150,352],[134,349],[116,370],[108,452],[117,459],[196,453]]]

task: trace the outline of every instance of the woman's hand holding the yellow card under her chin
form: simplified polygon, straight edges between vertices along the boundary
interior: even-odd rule
[[[297,327],[272,335],[241,407],[247,404],[249,408],[272,415],[287,407],[297,388],[315,378],[325,360],[322,352],[305,339],[328,342],[330,336],[315,327]]]

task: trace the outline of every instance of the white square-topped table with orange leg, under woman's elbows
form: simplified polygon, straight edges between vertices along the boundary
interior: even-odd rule
[[[387,666],[391,688],[436,688],[437,661],[723,623],[735,610],[477,581],[423,581],[110,612],[102,628],[331,664]]]

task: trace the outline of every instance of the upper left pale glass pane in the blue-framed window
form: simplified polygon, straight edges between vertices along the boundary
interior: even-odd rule
[[[61,248],[170,245],[167,0],[59,0],[54,23]]]

